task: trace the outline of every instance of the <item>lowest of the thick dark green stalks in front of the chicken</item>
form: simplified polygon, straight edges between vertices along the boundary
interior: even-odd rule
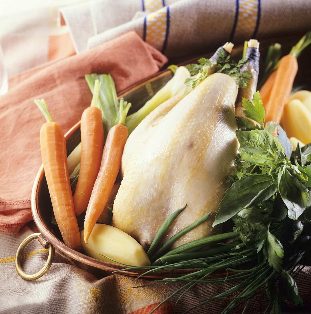
[[[161,257],[160,260],[163,263],[170,263],[170,262],[182,261],[182,260],[186,260],[190,258],[212,257],[216,254],[228,252],[235,246],[236,244],[233,244],[231,246],[217,246],[217,247],[211,247],[206,250],[198,251],[198,252],[190,252],[190,253],[186,252],[186,253],[168,255],[168,256]]]

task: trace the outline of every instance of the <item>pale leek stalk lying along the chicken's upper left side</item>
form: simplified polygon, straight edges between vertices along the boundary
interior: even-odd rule
[[[184,86],[186,78],[190,77],[189,71],[185,67],[176,69],[173,78],[171,78],[150,100],[146,102],[142,108],[135,113],[126,117],[125,126],[127,126],[129,134],[142,122],[142,120],[155,108],[164,101],[175,96],[177,92]]]

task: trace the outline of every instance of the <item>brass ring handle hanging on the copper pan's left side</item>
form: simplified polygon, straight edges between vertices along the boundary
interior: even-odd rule
[[[22,253],[26,247],[26,245],[34,240],[34,239],[38,239],[39,242],[42,244],[43,247],[48,248],[49,249],[49,254],[47,257],[47,262],[45,263],[45,265],[43,266],[43,268],[41,270],[39,270],[37,273],[35,274],[26,274],[23,271],[23,268],[21,266],[21,260],[22,260]],[[55,254],[55,249],[54,246],[47,242],[47,240],[42,236],[41,233],[33,233],[32,235],[28,236],[27,238],[25,238],[25,240],[19,245],[17,252],[16,252],[16,257],[15,257],[15,268],[17,273],[19,274],[20,277],[22,277],[25,280],[35,280],[38,279],[40,277],[42,277],[51,267],[52,263],[53,263],[53,259],[54,259],[54,254]]]

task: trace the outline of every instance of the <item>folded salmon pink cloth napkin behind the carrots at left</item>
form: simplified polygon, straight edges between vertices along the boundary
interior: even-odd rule
[[[45,122],[33,100],[44,98],[66,132],[92,99],[85,74],[110,73],[121,91],[157,73],[166,62],[131,31],[11,80],[13,87],[0,97],[0,231],[17,233],[32,219],[31,188],[41,165],[39,132]]]

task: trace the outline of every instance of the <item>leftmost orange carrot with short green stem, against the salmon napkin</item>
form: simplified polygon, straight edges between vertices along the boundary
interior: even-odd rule
[[[69,181],[64,133],[62,127],[53,122],[44,99],[35,100],[35,103],[47,118],[40,130],[40,144],[55,219],[65,244],[77,249],[81,241]]]

